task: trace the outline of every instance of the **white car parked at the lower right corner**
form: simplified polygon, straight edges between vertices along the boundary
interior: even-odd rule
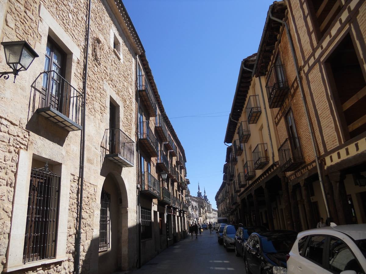
[[[366,273],[366,224],[300,232],[289,256],[287,273]]]

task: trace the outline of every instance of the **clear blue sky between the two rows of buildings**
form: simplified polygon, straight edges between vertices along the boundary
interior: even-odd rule
[[[223,180],[224,137],[240,62],[257,52],[268,7],[257,0],[123,0],[165,111],[213,208]],[[199,115],[206,114],[206,115]],[[182,116],[196,116],[184,117]]]

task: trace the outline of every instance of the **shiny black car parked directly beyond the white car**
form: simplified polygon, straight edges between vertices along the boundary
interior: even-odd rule
[[[247,274],[280,274],[286,268],[286,255],[296,240],[297,232],[274,230],[250,235],[244,246]],[[275,271],[273,271],[273,267]]]

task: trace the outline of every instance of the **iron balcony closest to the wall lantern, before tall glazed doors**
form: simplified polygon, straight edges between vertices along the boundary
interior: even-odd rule
[[[38,104],[36,113],[68,131],[82,129],[83,95],[57,72],[40,73],[31,84],[31,96],[33,107]]]

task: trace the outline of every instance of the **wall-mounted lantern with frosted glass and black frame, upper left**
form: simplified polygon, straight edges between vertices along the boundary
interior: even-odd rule
[[[0,72],[0,78],[9,79],[9,74],[18,76],[19,71],[26,71],[36,57],[39,57],[37,52],[26,41],[1,42],[4,47],[6,64],[13,71]]]

